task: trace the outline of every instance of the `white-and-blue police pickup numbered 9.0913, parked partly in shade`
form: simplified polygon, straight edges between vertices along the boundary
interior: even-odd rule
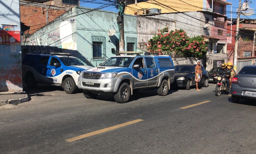
[[[29,53],[22,59],[22,78],[28,88],[35,88],[38,83],[51,84],[73,94],[80,72],[88,68],[92,67],[69,53]]]

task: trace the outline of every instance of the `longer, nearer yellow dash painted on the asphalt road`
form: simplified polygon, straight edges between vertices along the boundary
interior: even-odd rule
[[[104,128],[104,129],[100,129],[100,130],[93,131],[93,132],[90,132],[90,133],[87,133],[87,134],[79,135],[77,137],[72,137],[70,139],[66,139],[66,141],[67,142],[73,142],[73,141],[76,141],[76,140],[79,140],[79,139],[83,139],[85,137],[90,137],[90,136],[93,136],[93,135],[96,135],[96,134],[101,134],[101,133],[104,133],[106,131],[110,131],[110,130],[113,130],[113,129],[124,127],[124,126],[130,125],[132,123],[137,123],[137,122],[140,122],[140,121],[143,121],[143,120],[142,119],[137,119],[137,120],[129,121],[129,122],[126,122],[126,123],[121,123],[119,125],[111,126],[111,127]]]

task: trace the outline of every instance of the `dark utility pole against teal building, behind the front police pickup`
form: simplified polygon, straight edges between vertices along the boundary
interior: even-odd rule
[[[126,6],[126,0],[118,0],[118,17],[117,23],[119,27],[119,51],[124,51],[124,9]],[[118,51],[117,51],[118,54]]]

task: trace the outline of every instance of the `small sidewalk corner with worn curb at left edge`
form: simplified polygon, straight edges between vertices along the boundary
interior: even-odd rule
[[[6,104],[20,104],[29,100],[26,92],[0,92],[0,108]]]

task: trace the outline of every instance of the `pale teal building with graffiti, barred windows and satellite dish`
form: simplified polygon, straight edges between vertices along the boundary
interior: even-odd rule
[[[98,66],[120,48],[137,51],[137,17],[124,16],[124,47],[119,47],[117,17],[116,12],[73,7],[31,34],[26,53],[65,52]]]

